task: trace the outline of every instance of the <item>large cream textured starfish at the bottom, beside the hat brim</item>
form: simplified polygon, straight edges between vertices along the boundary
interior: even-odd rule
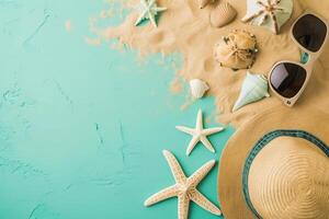
[[[175,180],[175,184],[149,197],[145,201],[145,206],[148,207],[159,201],[177,196],[179,219],[188,219],[191,200],[204,208],[205,210],[208,210],[214,215],[220,216],[220,210],[196,189],[196,186],[213,169],[216,161],[212,160],[205,163],[193,175],[186,177],[178,160],[170,151],[163,150],[163,155],[167,159],[167,162],[171,169],[171,172]]]

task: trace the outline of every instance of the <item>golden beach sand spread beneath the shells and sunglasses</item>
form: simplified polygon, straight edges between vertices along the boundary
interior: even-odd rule
[[[314,0],[295,0],[293,16],[283,26],[280,35],[273,35],[265,28],[243,24],[240,21],[246,13],[246,0],[228,2],[237,9],[238,16],[235,22],[223,28],[215,28],[209,24],[213,5],[201,10],[196,0],[158,0],[159,5],[168,8],[168,11],[160,16],[158,28],[149,24],[136,27],[134,23],[138,14],[133,11],[122,25],[105,30],[93,27],[93,31],[103,39],[118,38],[128,47],[137,49],[140,55],[182,54],[184,59],[179,74],[186,81],[194,78],[206,81],[212,88],[209,94],[216,99],[218,120],[239,128],[256,115],[271,108],[280,111],[286,106],[272,95],[270,99],[250,104],[232,114],[231,108],[239,95],[247,71],[222,68],[213,57],[214,45],[232,30],[246,30],[253,33],[260,51],[250,71],[268,76],[271,67],[279,60],[299,60],[300,51],[290,37],[290,28],[295,19],[305,9],[309,9],[329,21],[329,1],[318,0],[315,3]],[[134,5],[138,1],[124,3]],[[304,95],[292,111],[307,111],[311,106],[321,108],[329,106],[328,60],[329,45],[326,45],[325,53],[315,65],[311,80]]]

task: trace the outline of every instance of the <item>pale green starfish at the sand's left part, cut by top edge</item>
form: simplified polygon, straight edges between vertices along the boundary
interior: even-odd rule
[[[140,12],[139,18],[137,19],[135,26],[141,23],[144,20],[150,20],[155,27],[157,27],[156,15],[159,12],[166,11],[167,8],[158,7],[156,0],[140,0],[140,4],[138,7]]]

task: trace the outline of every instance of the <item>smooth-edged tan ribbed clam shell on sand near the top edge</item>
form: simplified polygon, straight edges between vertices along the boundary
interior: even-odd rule
[[[235,20],[237,10],[228,2],[219,3],[211,13],[211,24],[222,27]]]

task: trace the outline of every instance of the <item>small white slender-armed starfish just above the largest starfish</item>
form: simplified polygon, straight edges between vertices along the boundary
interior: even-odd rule
[[[188,127],[184,127],[184,126],[177,126],[175,128],[183,131],[183,132],[185,132],[185,134],[189,134],[189,135],[193,136],[193,138],[192,138],[192,140],[191,140],[191,142],[190,142],[190,145],[186,149],[186,155],[190,155],[190,153],[195,148],[195,146],[198,141],[201,141],[209,151],[212,151],[214,153],[215,149],[212,146],[212,143],[209,142],[209,140],[207,139],[207,136],[224,130],[223,127],[204,129],[203,128],[203,119],[202,119],[202,111],[201,110],[198,110],[198,112],[197,112],[195,129],[188,128]]]

